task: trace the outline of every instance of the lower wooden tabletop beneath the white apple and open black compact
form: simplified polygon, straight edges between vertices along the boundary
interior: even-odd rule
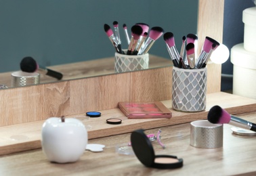
[[[256,112],[239,117],[256,123]],[[255,175],[256,136],[235,135],[231,127],[223,125],[223,147],[215,149],[190,146],[190,123],[162,127],[161,141],[166,148],[153,141],[154,152],[183,158],[180,169],[147,168],[134,155],[118,154],[116,145],[130,141],[131,133],[125,133],[90,139],[89,144],[104,144],[106,148],[97,153],[86,150],[74,163],[49,162],[42,150],[0,156],[0,175]]]

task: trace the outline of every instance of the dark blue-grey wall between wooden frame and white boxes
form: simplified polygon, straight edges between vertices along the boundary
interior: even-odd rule
[[[242,22],[242,11],[248,7],[254,7],[252,0],[225,0],[223,44],[231,49],[234,45],[244,42],[244,23]],[[221,77],[221,90],[232,89],[233,64],[230,58],[222,64],[222,74],[230,76]]]

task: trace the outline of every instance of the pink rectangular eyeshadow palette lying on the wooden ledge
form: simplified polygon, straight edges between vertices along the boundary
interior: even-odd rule
[[[171,118],[171,111],[162,102],[119,102],[128,118]]]

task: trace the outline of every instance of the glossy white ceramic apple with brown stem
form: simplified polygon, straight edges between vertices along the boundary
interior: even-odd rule
[[[79,160],[88,141],[85,125],[76,118],[48,118],[43,123],[41,135],[47,159],[58,163]]]

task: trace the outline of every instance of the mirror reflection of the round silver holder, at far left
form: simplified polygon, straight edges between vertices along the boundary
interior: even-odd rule
[[[38,72],[12,72],[12,87],[37,85],[39,83],[40,74]]]

